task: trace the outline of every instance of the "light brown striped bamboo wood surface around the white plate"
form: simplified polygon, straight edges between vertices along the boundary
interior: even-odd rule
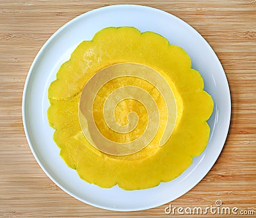
[[[72,198],[38,166],[22,127],[24,82],[45,41],[86,11],[124,3],[159,8],[192,25],[220,58],[230,85],[232,119],[225,147],[207,176],[172,205],[205,208],[222,200],[227,207],[253,209],[254,215],[248,217],[256,217],[255,0],[0,0],[0,217],[174,216],[164,214],[168,204],[141,212],[111,212]]]

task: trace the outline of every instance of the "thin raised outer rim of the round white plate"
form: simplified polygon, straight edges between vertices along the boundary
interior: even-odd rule
[[[114,207],[111,208],[111,207],[104,207],[102,205],[97,205],[97,204],[92,203],[90,201],[84,200],[84,199],[80,198],[79,196],[77,196],[76,194],[73,194],[72,192],[68,191],[68,189],[66,189],[61,184],[59,184],[59,182],[54,177],[52,177],[51,173],[49,173],[47,171],[47,169],[41,163],[38,155],[36,154],[35,149],[33,148],[33,144],[31,143],[31,140],[30,140],[30,137],[29,137],[29,133],[28,133],[28,125],[26,123],[26,94],[27,94],[27,90],[28,90],[29,80],[30,80],[31,75],[33,73],[33,69],[35,68],[36,62],[40,61],[40,56],[44,53],[45,48],[47,48],[49,43],[51,43],[51,41],[56,36],[58,36],[58,34],[61,31],[63,31],[63,29],[68,27],[68,25],[71,25],[73,22],[76,22],[76,20],[79,20],[79,19],[83,18],[84,16],[90,15],[92,13],[98,13],[101,10],[108,10],[108,8],[127,7],[127,6],[128,7],[134,7],[134,8],[142,8],[142,9],[145,8],[145,9],[149,9],[149,10],[156,10],[158,13],[168,14],[168,16],[170,16],[172,18],[175,18],[177,20],[182,21],[184,24],[186,24],[186,27],[188,27],[192,31],[196,32],[196,34],[199,34],[199,36],[202,38],[202,40],[207,45],[207,47],[209,47],[213,51],[213,54],[216,56],[216,59],[218,59],[218,56],[216,55],[216,53],[212,49],[211,45],[209,45],[209,43],[207,43],[207,41],[204,39],[204,37],[200,33],[198,33],[198,31],[196,31],[196,29],[194,29],[191,25],[189,25],[187,22],[185,22],[181,18],[176,17],[175,15],[172,15],[171,13],[168,13],[166,11],[159,10],[157,8],[152,8],[150,6],[143,6],[143,5],[140,5],[140,4],[113,4],[113,5],[104,6],[104,7],[101,7],[101,8],[96,8],[94,10],[87,11],[87,12],[85,12],[85,13],[83,13],[83,14],[75,17],[75,18],[73,18],[72,20],[68,21],[66,24],[62,25],[54,34],[52,34],[51,37],[48,38],[48,40],[44,43],[44,45],[42,45],[42,47],[40,48],[39,52],[36,54],[35,59],[33,60],[32,64],[31,64],[31,67],[29,68],[28,75],[26,76],[26,82],[24,84],[24,90],[23,90],[23,93],[22,93],[22,123],[23,123],[23,126],[24,126],[24,132],[25,132],[25,135],[26,135],[26,139],[28,141],[29,148],[30,148],[31,152],[32,152],[33,156],[36,159],[36,162],[39,164],[40,168],[42,168],[42,170],[47,175],[47,177],[49,177],[52,180],[52,182],[54,182],[54,184],[58,185],[58,187],[60,187],[60,189],[65,191],[65,193],[68,193],[70,196],[76,198],[77,200],[83,201],[84,203],[87,203],[88,205],[92,205],[92,206],[97,207],[97,208],[103,208],[103,209],[106,209],[106,210],[113,210],[113,211],[123,211],[123,212],[146,210],[148,208],[159,207],[159,206],[164,205],[164,204],[166,204],[168,202],[156,203],[156,205],[150,205],[149,207],[140,207],[140,208],[134,208],[133,210],[129,210],[127,208],[114,208]],[[223,138],[221,140],[222,141],[221,144],[223,144],[223,145],[222,145],[221,149],[219,150],[218,156],[216,156],[216,159],[214,159],[211,162],[211,164],[209,164],[209,169],[207,168],[207,170],[205,170],[205,172],[202,173],[200,178],[197,179],[193,184],[191,184],[189,186],[188,190],[184,190],[182,192],[182,194],[180,194],[177,198],[179,198],[180,196],[186,194],[189,190],[193,189],[193,187],[195,187],[195,185],[198,184],[205,177],[205,175],[207,175],[207,173],[209,173],[209,171],[211,170],[212,166],[214,165],[214,163],[217,161],[218,157],[220,156],[221,150],[223,149],[223,147],[225,145],[225,141],[227,140],[228,131],[229,131],[229,127],[230,127],[232,104],[231,104],[231,96],[230,96],[230,89],[229,89],[229,85],[228,85],[227,75],[225,74],[225,71],[224,71],[223,66],[222,66],[222,64],[220,62],[220,59],[218,59],[218,64],[220,65],[220,68],[223,71],[223,76],[225,78],[225,85],[226,85],[226,88],[227,88],[227,91],[228,91],[227,123],[225,125],[225,129],[223,129],[223,131],[225,133],[227,133],[227,134],[224,134],[224,136],[223,136]],[[177,199],[177,198],[175,198],[175,199]]]

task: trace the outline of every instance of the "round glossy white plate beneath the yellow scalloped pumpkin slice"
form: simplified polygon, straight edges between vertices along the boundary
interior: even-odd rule
[[[178,178],[157,187],[124,191],[115,186],[102,189],[81,180],[59,156],[52,140],[54,130],[47,121],[47,89],[56,78],[60,65],[83,40],[92,40],[97,31],[109,26],[132,26],[154,31],[188,52],[193,68],[200,71],[205,91],[214,100],[208,123],[211,136],[204,152]],[[225,143],[230,122],[230,92],[227,78],[216,54],[186,22],[155,8],[115,5],[99,8],[74,18],[61,27],[41,48],[29,70],[22,99],[22,117],[28,143],[36,161],[48,177],[66,193],[95,207],[131,211],[157,207],[175,200],[192,189],[211,169]]]

